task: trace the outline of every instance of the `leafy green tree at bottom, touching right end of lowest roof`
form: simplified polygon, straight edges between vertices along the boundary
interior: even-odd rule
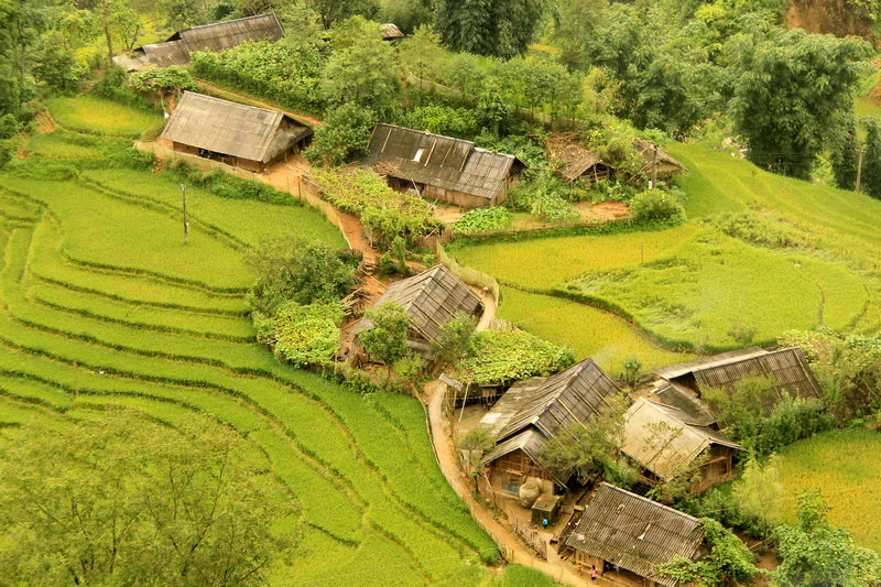
[[[661,576],[696,587],[752,585],[759,569],[743,541],[709,518],[700,519],[700,528],[709,546],[709,554],[698,561],[677,556],[670,563],[657,566]]]

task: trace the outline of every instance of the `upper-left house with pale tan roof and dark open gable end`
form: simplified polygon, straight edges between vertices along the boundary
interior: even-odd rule
[[[181,153],[262,172],[304,149],[312,135],[284,112],[185,91],[161,138]]]

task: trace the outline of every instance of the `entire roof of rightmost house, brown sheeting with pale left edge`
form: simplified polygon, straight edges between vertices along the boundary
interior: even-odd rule
[[[737,355],[740,352],[740,355]],[[703,362],[701,362],[703,361]],[[763,401],[765,413],[783,399],[786,393],[791,398],[823,398],[814,373],[798,347],[785,348],[775,351],[764,351],[759,348],[743,349],[716,357],[674,365],[659,369],[656,374],[678,383],[694,379],[696,391],[708,388],[733,392],[736,385],[747,378],[764,377],[776,381],[773,393]]]

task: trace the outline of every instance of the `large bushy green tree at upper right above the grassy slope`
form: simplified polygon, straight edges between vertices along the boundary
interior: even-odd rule
[[[733,37],[727,51],[728,111],[749,144],[747,156],[774,173],[807,178],[829,143],[830,122],[852,116],[870,47],[853,37],[761,25]]]

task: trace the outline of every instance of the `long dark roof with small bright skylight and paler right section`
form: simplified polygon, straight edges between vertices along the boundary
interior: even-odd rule
[[[500,194],[513,165],[525,166],[470,141],[392,124],[373,129],[366,163],[385,175],[486,198]]]

